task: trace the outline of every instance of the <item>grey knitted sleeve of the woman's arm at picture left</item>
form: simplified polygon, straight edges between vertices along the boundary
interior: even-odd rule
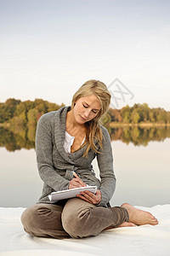
[[[51,116],[50,116],[51,115]],[[69,180],[61,177],[53,166],[52,118],[53,113],[42,115],[37,123],[36,153],[39,175],[55,191],[68,189]]]

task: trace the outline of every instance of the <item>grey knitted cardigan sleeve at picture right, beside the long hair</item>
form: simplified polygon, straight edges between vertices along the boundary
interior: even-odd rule
[[[113,155],[111,148],[111,138],[105,127],[102,126],[103,130],[103,150],[100,149],[100,154],[97,154],[99,175],[101,179],[101,201],[98,206],[105,206],[111,200],[116,189],[116,177],[113,171]]]

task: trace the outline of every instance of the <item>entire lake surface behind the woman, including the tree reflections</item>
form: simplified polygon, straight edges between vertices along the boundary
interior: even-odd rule
[[[124,201],[146,207],[169,203],[170,127],[123,126],[107,129],[111,136],[117,178],[111,205],[118,206]],[[35,129],[22,127],[15,131],[0,127],[0,207],[28,207],[42,193],[42,180],[37,172],[33,149],[35,132]],[[93,166],[99,176],[96,160]]]

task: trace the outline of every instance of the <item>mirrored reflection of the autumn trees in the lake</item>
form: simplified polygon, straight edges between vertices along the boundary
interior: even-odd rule
[[[133,145],[146,146],[150,141],[161,142],[170,137],[170,126],[124,126],[116,128],[107,128],[111,141],[121,140],[122,143],[133,143]],[[8,151],[14,151],[20,148],[35,148],[36,131],[27,131],[21,129],[14,132],[0,127],[0,147],[5,147]]]

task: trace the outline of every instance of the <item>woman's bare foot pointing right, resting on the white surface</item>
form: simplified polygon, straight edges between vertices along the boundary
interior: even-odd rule
[[[136,225],[144,225],[144,224],[156,225],[156,224],[158,224],[157,219],[150,212],[145,212],[143,210],[139,210],[127,203],[122,204],[121,207],[124,207],[127,209],[127,212],[129,214],[129,222],[131,222],[133,224],[136,224]]]

